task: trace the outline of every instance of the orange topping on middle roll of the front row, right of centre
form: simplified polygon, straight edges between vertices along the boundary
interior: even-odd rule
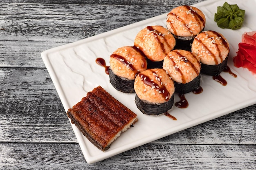
[[[197,55],[185,50],[173,50],[164,58],[163,68],[173,81],[185,84],[199,75],[201,64]]]

